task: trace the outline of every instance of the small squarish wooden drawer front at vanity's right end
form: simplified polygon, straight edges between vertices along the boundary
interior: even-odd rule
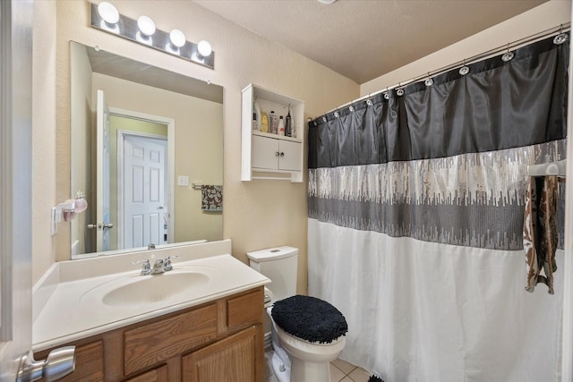
[[[232,330],[263,321],[264,292],[254,292],[227,299],[227,328]]]

